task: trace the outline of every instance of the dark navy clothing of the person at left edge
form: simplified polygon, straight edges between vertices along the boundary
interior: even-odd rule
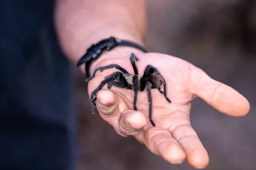
[[[0,170],[71,170],[73,79],[53,27],[54,1],[0,2]]]

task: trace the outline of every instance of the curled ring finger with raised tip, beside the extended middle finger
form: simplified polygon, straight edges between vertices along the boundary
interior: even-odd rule
[[[126,135],[136,135],[147,124],[149,124],[147,117],[134,110],[124,111],[119,119],[119,129]]]

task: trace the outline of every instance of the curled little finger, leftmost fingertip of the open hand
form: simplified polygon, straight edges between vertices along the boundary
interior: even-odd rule
[[[119,100],[111,90],[101,90],[97,93],[98,111],[103,119],[118,114]]]

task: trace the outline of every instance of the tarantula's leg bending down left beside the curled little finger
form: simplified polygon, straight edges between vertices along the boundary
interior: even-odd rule
[[[96,96],[98,91],[100,91],[106,83],[113,82],[116,79],[116,77],[118,77],[119,75],[122,75],[122,73],[121,72],[114,72],[113,74],[105,77],[105,79],[99,84],[99,86],[91,93],[90,100],[91,100],[91,103],[93,105],[93,114],[96,113],[96,103],[95,103],[95,101],[97,100],[97,98],[96,97],[94,98],[94,96]]]

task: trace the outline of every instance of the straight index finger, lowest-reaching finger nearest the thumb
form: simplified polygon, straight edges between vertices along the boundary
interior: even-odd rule
[[[195,130],[190,125],[181,125],[172,131],[172,136],[183,147],[186,160],[196,168],[204,168],[209,163],[209,156],[198,138]]]

